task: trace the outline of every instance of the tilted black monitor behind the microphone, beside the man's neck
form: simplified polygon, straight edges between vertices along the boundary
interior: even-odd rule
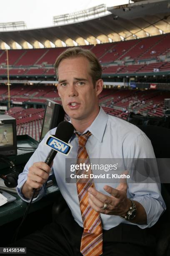
[[[64,117],[65,111],[62,106],[53,100],[47,100],[40,141],[42,141],[48,131],[57,127],[57,125],[64,120]]]

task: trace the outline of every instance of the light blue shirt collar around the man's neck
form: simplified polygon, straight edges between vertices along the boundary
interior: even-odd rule
[[[100,111],[95,118],[95,120],[92,122],[92,124],[83,132],[86,133],[87,131],[90,131],[95,138],[97,138],[100,143],[102,142],[102,138],[105,132],[106,124],[108,120],[108,115],[105,113],[105,111],[100,107]],[[71,121],[69,121],[71,122]],[[72,136],[71,140],[75,136]]]

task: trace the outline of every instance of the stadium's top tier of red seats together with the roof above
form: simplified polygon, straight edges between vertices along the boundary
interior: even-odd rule
[[[10,47],[9,71],[13,77],[54,76],[53,64],[63,46],[75,45],[96,54],[104,76],[166,75],[170,71],[169,7],[168,0],[135,1],[107,9],[101,5],[54,17],[57,26],[50,28],[1,32],[0,77],[7,76],[5,44]],[[88,16],[92,11],[100,13],[92,18]],[[80,21],[83,15],[86,19]],[[17,44],[23,49],[15,49]],[[28,49],[40,44],[43,49]],[[51,44],[55,48],[49,48]]]

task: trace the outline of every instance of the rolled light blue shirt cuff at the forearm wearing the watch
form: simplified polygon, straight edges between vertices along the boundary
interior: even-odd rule
[[[144,225],[138,225],[138,227],[144,229],[144,228],[150,228],[152,227],[160,218],[160,215],[164,212],[166,209],[165,203],[160,202],[159,200],[150,197],[149,195],[140,196],[140,197],[134,197],[131,198],[134,201],[139,202],[145,209],[146,215],[147,215],[147,224]]]

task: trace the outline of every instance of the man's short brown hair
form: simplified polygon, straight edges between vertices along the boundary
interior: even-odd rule
[[[95,54],[93,54],[91,51],[87,49],[82,49],[80,47],[68,48],[57,57],[54,64],[57,78],[58,78],[58,66],[63,59],[69,59],[69,58],[80,57],[80,56],[85,57],[90,62],[90,75],[92,77],[92,82],[95,87],[95,82],[102,77],[102,67],[97,57],[95,56]]]

